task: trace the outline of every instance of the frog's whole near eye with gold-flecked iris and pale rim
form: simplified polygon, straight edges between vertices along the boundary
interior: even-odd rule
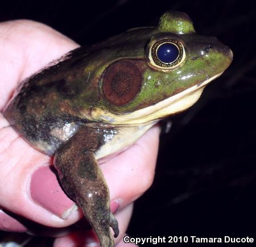
[[[185,49],[180,41],[166,38],[151,45],[148,58],[156,68],[174,69],[184,61]]]

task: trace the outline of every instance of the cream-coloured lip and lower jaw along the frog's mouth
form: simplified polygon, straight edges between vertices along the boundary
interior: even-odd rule
[[[164,99],[164,101],[156,103],[153,106],[148,106],[131,112],[130,114],[115,115],[97,108],[92,110],[92,118],[110,124],[138,125],[146,124],[164,118],[165,116],[176,114],[177,112],[184,111],[195,104],[203,92],[204,87],[209,82],[213,81],[213,79],[219,77],[222,73],[216,74],[216,76],[213,76],[200,84],[189,87],[188,89],[181,91],[170,98]]]

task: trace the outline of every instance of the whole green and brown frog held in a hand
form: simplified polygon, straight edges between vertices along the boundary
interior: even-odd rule
[[[167,11],[156,27],[74,49],[24,79],[3,115],[32,147],[54,156],[61,186],[110,247],[118,221],[98,161],[191,107],[232,58],[216,37],[197,34],[188,15]]]

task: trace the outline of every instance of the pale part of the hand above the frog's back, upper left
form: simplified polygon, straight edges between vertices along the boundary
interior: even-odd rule
[[[20,81],[78,46],[51,27],[32,20],[0,23],[0,111]]]

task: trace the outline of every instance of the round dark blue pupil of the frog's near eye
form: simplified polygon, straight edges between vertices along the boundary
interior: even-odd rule
[[[177,59],[179,56],[179,49],[175,44],[164,43],[158,47],[156,55],[161,62],[169,64]]]

